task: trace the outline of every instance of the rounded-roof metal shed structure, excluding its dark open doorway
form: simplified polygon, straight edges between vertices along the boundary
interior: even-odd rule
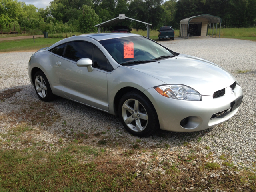
[[[180,21],[180,37],[187,38],[189,37],[189,24],[195,24],[195,23],[201,23],[201,35],[200,36],[207,36],[208,32],[208,24],[210,23],[210,35],[211,36],[211,29],[212,29],[212,37],[213,37],[213,31],[214,31],[214,24],[216,23],[216,33],[217,33],[217,26],[218,23],[221,27],[221,18],[218,16],[203,14],[198,16],[193,16],[190,18],[182,19]],[[213,25],[212,25],[213,24]],[[215,37],[216,37],[215,33]],[[219,38],[220,38],[220,32],[219,32]]]

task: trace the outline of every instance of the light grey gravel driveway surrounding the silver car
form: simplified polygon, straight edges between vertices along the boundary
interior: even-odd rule
[[[256,161],[256,42],[236,39],[191,39],[161,41],[175,52],[210,60],[230,71],[244,91],[238,113],[227,122],[208,130],[190,133],[160,131],[148,138],[130,135],[116,116],[57,98],[44,103],[36,95],[28,78],[27,65],[33,52],[0,54],[0,133],[20,122],[27,122],[42,130],[38,140],[55,143],[58,138],[74,140],[81,134],[84,144],[102,145],[120,152],[130,148],[152,149],[158,154],[178,152],[186,156],[197,149],[201,156],[209,154],[209,161],[231,162],[238,170],[252,168]],[[13,92],[10,91],[14,90]],[[5,96],[9,95],[9,96]],[[8,98],[9,97],[9,98]],[[0,138],[1,139],[1,138]],[[2,138],[4,140],[4,138]],[[0,148],[21,148],[22,145],[0,145]],[[51,146],[54,148],[54,145]],[[220,158],[222,156],[224,158]],[[139,162],[149,155],[134,154]],[[158,161],[168,160],[158,156]],[[197,162],[194,162],[196,166]],[[160,167],[156,169],[162,170]]]

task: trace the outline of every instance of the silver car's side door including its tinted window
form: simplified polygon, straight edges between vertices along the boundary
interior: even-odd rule
[[[78,67],[76,62],[81,58],[93,60],[94,45],[75,41],[66,46],[64,57],[69,59],[58,68],[58,78],[63,85],[63,93],[77,102],[109,111],[107,70],[100,67],[88,72],[86,67]]]

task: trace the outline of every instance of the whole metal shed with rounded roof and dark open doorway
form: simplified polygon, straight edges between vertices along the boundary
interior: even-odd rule
[[[180,37],[188,38],[190,36],[207,36],[208,28],[210,28],[210,36],[213,37],[214,26],[217,33],[218,23],[220,24],[219,25],[219,30],[220,30],[221,18],[218,16],[213,16],[208,14],[203,14],[203,15],[182,19],[180,21]],[[216,37],[216,33],[215,33],[215,37]],[[219,33],[219,38],[220,38],[220,33]]]

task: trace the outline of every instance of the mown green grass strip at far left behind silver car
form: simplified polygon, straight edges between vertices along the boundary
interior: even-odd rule
[[[36,51],[44,47],[49,47],[52,44],[62,40],[61,38],[36,38],[33,39],[8,40],[0,41],[0,52],[12,51]]]

